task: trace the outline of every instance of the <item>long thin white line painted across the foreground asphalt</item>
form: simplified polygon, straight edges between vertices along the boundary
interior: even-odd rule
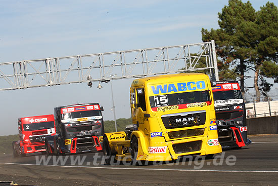
[[[0,163],[9,165],[35,165],[35,164],[24,164],[24,163]],[[162,170],[162,171],[201,171],[201,172],[267,172],[267,173],[278,173],[278,170],[201,170],[201,169],[151,169],[151,168],[127,168],[127,167],[88,167],[88,166],[66,166],[66,165],[40,165],[50,167],[70,167],[70,168],[96,168],[96,169],[118,169],[118,170]]]

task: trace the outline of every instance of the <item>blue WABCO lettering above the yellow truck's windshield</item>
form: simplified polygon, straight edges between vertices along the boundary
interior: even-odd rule
[[[197,82],[184,82],[184,83],[172,83],[165,85],[151,86],[153,94],[159,93],[172,93],[172,92],[183,92],[192,90],[204,90],[206,89],[206,83],[204,81]]]

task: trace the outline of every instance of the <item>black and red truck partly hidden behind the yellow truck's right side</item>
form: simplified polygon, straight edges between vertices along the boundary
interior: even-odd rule
[[[237,81],[216,82],[212,87],[219,143],[222,148],[241,148],[247,138],[246,110]]]

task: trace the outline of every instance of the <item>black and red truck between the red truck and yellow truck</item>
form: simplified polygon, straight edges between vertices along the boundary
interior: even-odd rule
[[[102,151],[102,111],[99,103],[55,107],[57,134],[45,138],[47,155]]]

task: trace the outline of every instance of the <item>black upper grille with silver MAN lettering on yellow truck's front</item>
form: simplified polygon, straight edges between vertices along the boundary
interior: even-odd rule
[[[162,115],[161,119],[166,129],[204,125],[206,121],[206,111],[200,110]]]

